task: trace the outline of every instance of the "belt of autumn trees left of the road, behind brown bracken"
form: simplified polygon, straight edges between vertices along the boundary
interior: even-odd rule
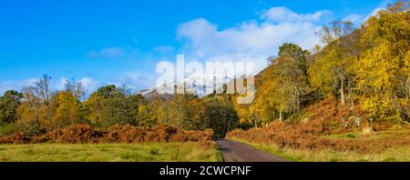
[[[35,86],[5,92],[0,99],[1,134],[22,131],[42,135],[67,125],[87,124],[107,129],[112,125],[170,125],[186,130],[214,129],[218,136],[238,126],[238,115],[226,95],[160,95],[146,99],[126,86],[107,85],[85,98],[81,83],[67,81],[63,91],[50,89],[44,75]]]

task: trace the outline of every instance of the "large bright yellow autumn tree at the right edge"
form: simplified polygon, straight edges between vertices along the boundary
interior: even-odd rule
[[[363,28],[366,51],[356,64],[362,107],[375,121],[409,120],[408,2],[380,11]]]

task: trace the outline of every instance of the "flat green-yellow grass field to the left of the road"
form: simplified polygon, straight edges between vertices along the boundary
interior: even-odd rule
[[[5,162],[216,162],[216,147],[198,143],[0,145]]]

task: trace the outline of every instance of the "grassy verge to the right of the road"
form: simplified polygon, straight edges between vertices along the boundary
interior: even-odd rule
[[[344,135],[333,137],[341,138]],[[351,138],[347,135],[347,138]],[[294,148],[280,148],[274,144],[257,144],[246,140],[232,140],[254,146],[257,149],[295,162],[410,162],[410,147],[390,147],[378,154],[358,154],[354,152],[336,152],[333,150],[312,151]]]

